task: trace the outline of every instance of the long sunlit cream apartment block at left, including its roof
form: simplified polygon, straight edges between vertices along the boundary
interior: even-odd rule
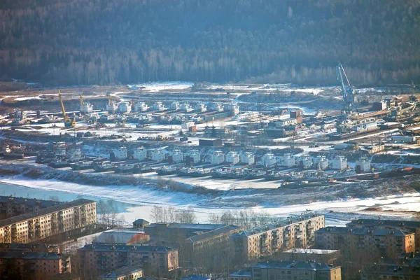
[[[96,202],[74,200],[0,221],[0,242],[29,243],[96,222]]]

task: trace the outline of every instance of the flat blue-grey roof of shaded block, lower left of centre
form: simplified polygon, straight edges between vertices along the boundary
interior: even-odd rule
[[[78,251],[113,251],[113,252],[127,252],[127,251],[137,251],[143,253],[167,253],[171,251],[178,251],[176,248],[170,248],[165,246],[152,246],[152,245],[123,245],[123,244],[87,244],[82,248],[79,248]]]

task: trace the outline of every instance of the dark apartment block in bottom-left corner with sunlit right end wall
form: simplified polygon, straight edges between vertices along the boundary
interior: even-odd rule
[[[70,258],[57,253],[0,252],[0,279],[51,279],[70,267]]]

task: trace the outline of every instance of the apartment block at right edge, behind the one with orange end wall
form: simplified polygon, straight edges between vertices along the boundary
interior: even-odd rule
[[[416,250],[420,250],[420,221],[393,221],[377,219],[359,219],[351,221],[347,228],[383,228],[396,229],[403,232],[412,232],[416,237]]]

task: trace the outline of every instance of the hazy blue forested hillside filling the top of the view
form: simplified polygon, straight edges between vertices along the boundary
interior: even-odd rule
[[[418,0],[1,0],[0,79],[419,82]]]

